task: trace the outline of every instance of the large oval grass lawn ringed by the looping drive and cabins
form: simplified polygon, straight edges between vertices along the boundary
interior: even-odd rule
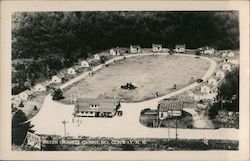
[[[204,75],[209,62],[184,56],[139,56],[116,61],[108,67],[64,90],[64,102],[71,96],[117,97],[123,102],[138,102],[173,91],[174,84],[182,88]],[[135,90],[121,89],[121,85],[133,83]]]

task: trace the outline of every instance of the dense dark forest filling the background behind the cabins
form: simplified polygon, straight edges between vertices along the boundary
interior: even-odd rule
[[[239,49],[239,13],[92,11],[12,14],[12,94],[94,52],[152,43]],[[30,60],[24,62],[23,60]],[[17,60],[17,61],[15,61]],[[27,84],[27,82],[29,82]]]

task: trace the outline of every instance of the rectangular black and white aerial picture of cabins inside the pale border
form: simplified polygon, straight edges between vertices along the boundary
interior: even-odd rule
[[[11,12],[11,152],[239,152],[240,16]]]

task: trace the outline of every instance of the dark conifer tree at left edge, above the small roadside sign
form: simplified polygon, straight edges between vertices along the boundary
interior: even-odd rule
[[[22,145],[27,132],[34,132],[33,126],[22,110],[15,112],[12,116],[12,144]]]

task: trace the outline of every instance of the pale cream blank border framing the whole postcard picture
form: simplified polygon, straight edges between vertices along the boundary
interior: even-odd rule
[[[0,159],[15,160],[249,160],[249,1],[0,1]],[[175,152],[13,152],[11,151],[11,13],[14,11],[239,10],[240,150]],[[4,130],[3,130],[4,129]]]

